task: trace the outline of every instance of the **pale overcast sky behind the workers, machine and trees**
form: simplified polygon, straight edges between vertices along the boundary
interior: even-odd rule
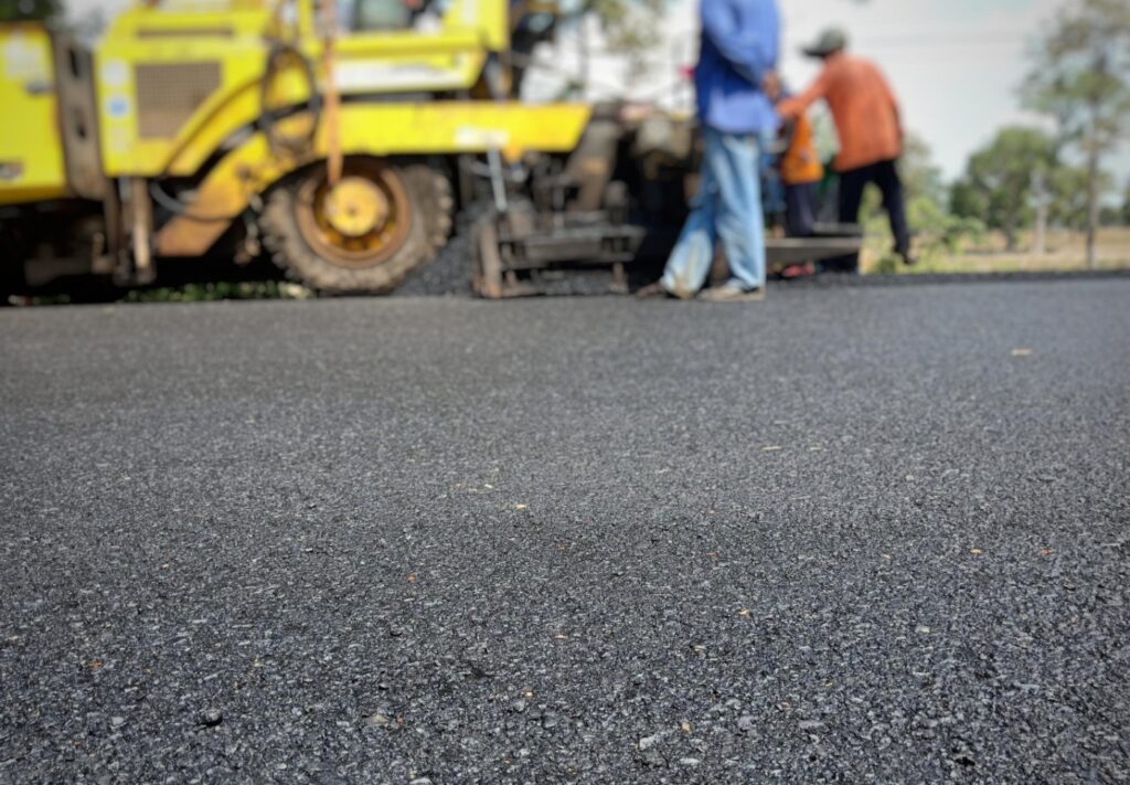
[[[671,93],[678,59],[693,62],[697,49],[697,0],[671,0],[657,46],[664,61],[635,87],[655,96]],[[1038,124],[1019,107],[1017,86],[1028,68],[1026,52],[1042,25],[1071,0],[777,0],[783,17],[782,70],[794,87],[806,85],[816,64],[799,53],[802,43],[828,25],[847,31],[851,48],[877,61],[898,95],[906,127],[929,144],[947,179],[958,176],[970,153],[1009,123]],[[128,0],[69,0],[73,12],[107,12]],[[565,51],[562,52],[560,49]],[[553,58],[568,63],[568,41]],[[598,62],[605,93],[623,87],[623,68]],[[599,87],[598,87],[599,92]],[[1124,183],[1130,146],[1109,166]]]

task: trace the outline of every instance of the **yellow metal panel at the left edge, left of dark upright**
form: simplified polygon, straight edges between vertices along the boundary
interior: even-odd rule
[[[67,195],[51,37],[40,25],[0,26],[0,204]]]

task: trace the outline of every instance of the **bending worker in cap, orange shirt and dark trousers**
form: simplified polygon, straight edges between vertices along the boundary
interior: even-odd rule
[[[824,98],[840,136],[840,154],[833,166],[840,174],[841,223],[859,221],[863,189],[875,183],[883,191],[883,206],[890,218],[895,253],[912,265],[911,233],[897,167],[903,152],[898,102],[875,63],[846,50],[847,36],[840,29],[825,31],[814,45],[806,48],[805,54],[823,60],[824,69],[811,87],[781,102],[777,112],[786,119],[799,118],[808,106]],[[858,268],[858,256],[834,267],[852,273]]]

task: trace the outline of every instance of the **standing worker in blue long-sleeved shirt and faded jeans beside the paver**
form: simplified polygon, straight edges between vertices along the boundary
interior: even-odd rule
[[[762,139],[776,112],[763,85],[775,79],[781,21],[776,0],[702,0],[695,69],[703,163],[698,193],[659,283],[643,295],[714,302],[765,292],[765,219],[758,183]],[[721,241],[730,279],[703,291]]]

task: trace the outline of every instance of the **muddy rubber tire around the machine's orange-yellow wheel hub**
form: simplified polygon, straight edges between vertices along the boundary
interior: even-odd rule
[[[347,162],[347,172],[354,161]],[[288,178],[268,195],[259,221],[263,244],[287,277],[325,294],[388,294],[414,269],[432,259],[435,248],[429,242],[428,222],[403,169],[379,162],[375,165],[384,167],[393,181],[403,186],[408,225],[395,247],[382,250],[382,256],[386,258],[374,257],[375,260],[367,264],[364,258],[348,262],[328,258],[332,255],[311,243],[303,233],[299,214],[305,209],[301,195],[310,187],[312,178],[324,172],[324,164],[314,164]]]

